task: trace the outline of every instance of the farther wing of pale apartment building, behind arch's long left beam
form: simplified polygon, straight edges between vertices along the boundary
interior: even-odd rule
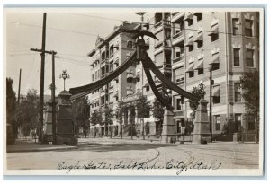
[[[136,29],[138,24],[123,23],[121,25],[127,29]],[[135,51],[134,39],[129,33],[119,31],[119,27],[115,27],[110,35],[105,39],[97,38],[95,48],[88,53],[91,57],[91,81],[96,82],[103,77],[111,74],[115,68],[120,66]],[[111,110],[116,110],[118,101],[123,101],[127,97],[130,98],[136,92],[136,83],[139,81],[139,70],[136,70],[136,64],[130,66],[125,73],[120,74],[112,82],[103,86],[103,88],[92,92],[89,95],[91,107],[90,113],[94,110],[103,110],[107,105]],[[104,120],[104,113],[103,118]],[[128,112],[123,118],[124,125],[128,124]],[[98,125],[97,135],[108,135],[109,126],[101,121]],[[124,127],[126,128],[126,127]],[[93,130],[92,130],[93,134]],[[119,122],[113,119],[112,136],[120,134]]]

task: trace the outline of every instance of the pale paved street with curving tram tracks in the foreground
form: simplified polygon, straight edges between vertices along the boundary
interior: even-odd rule
[[[107,167],[126,168],[130,165],[136,168],[142,162],[147,162],[144,166],[153,168],[197,164],[198,162],[202,162],[201,165],[220,169],[258,168],[258,144],[220,142],[208,145],[190,143],[181,145],[103,137],[80,139],[76,147],[35,144],[35,149],[30,149],[31,145],[29,145],[29,152],[26,148],[22,152],[13,148],[13,153],[7,153],[7,169],[55,170],[64,169],[70,165],[88,165],[90,168],[105,169]],[[22,147],[27,147],[27,145]]]

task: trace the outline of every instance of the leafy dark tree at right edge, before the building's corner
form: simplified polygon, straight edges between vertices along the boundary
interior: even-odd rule
[[[242,97],[245,100],[245,109],[247,114],[255,116],[256,142],[258,142],[258,122],[259,122],[259,72],[245,73],[240,77],[240,88],[242,89]]]

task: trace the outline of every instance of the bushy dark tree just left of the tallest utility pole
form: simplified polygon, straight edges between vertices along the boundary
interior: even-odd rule
[[[28,136],[32,129],[39,129],[39,101],[37,90],[28,90],[26,97],[20,102],[19,119],[24,136]]]

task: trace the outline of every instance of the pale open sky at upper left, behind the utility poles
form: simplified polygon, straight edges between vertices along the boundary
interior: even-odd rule
[[[30,48],[41,48],[43,13],[47,13],[46,50],[58,54],[55,59],[56,94],[64,89],[62,70],[67,70],[66,90],[90,83],[90,57],[96,37],[105,37],[123,21],[140,22],[136,10],[131,9],[19,9],[4,10],[4,41],[6,77],[14,80],[18,93],[19,71],[22,69],[21,94],[29,89],[40,93],[40,53]],[[51,55],[45,57],[44,93],[50,94]]]

